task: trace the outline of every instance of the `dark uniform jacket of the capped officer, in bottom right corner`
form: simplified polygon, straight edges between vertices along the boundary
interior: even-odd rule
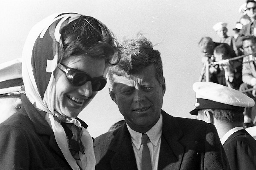
[[[256,140],[246,130],[233,133],[223,147],[231,170],[256,169]]]

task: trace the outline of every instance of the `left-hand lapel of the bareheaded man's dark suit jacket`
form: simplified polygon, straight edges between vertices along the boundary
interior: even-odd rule
[[[137,169],[136,159],[132,148],[132,140],[124,124],[113,138],[110,145],[110,150],[114,152],[111,159],[111,169],[130,170]]]

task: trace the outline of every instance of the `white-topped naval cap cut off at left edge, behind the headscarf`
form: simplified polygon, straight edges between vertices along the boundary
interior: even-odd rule
[[[0,64],[0,96],[18,96],[25,93],[21,58]]]

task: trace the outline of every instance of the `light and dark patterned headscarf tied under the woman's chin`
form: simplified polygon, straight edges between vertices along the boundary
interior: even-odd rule
[[[31,29],[23,48],[22,72],[26,96],[37,110],[46,112],[45,119],[53,129],[56,142],[69,165],[74,170],[92,170],[95,168],[95,156],[89,132],[77,119],[63,120],[54,111],[56,101],[53,71],[57,67],[58,56],[63,53],[60,29],[80,16],[76,13],[53,14],[37,23]],[[81,136],[81,140],[78,139],[81,145],[78,153],[70,151],[71,147],[60,120],[72,124],[70,131],[77,132],[73,133],[73,137]]]

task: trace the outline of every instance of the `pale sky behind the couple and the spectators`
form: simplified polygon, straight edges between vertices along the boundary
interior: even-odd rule
[[[76,12],[102,21],[116,35],[134,38],[138,32],[161,52],[166,82],[162,109],[178,117],[194,118],[194,82],[201,63],[197,46],[203,36],[219,41],[212,26],[227,22],[228,35],[241,17],[241,0],[1,0],[0,63],[21,57],[31,27],[56,12]],[[100,91],[78,116],[93,137],[105,133],[123,119],[108,88]]]

